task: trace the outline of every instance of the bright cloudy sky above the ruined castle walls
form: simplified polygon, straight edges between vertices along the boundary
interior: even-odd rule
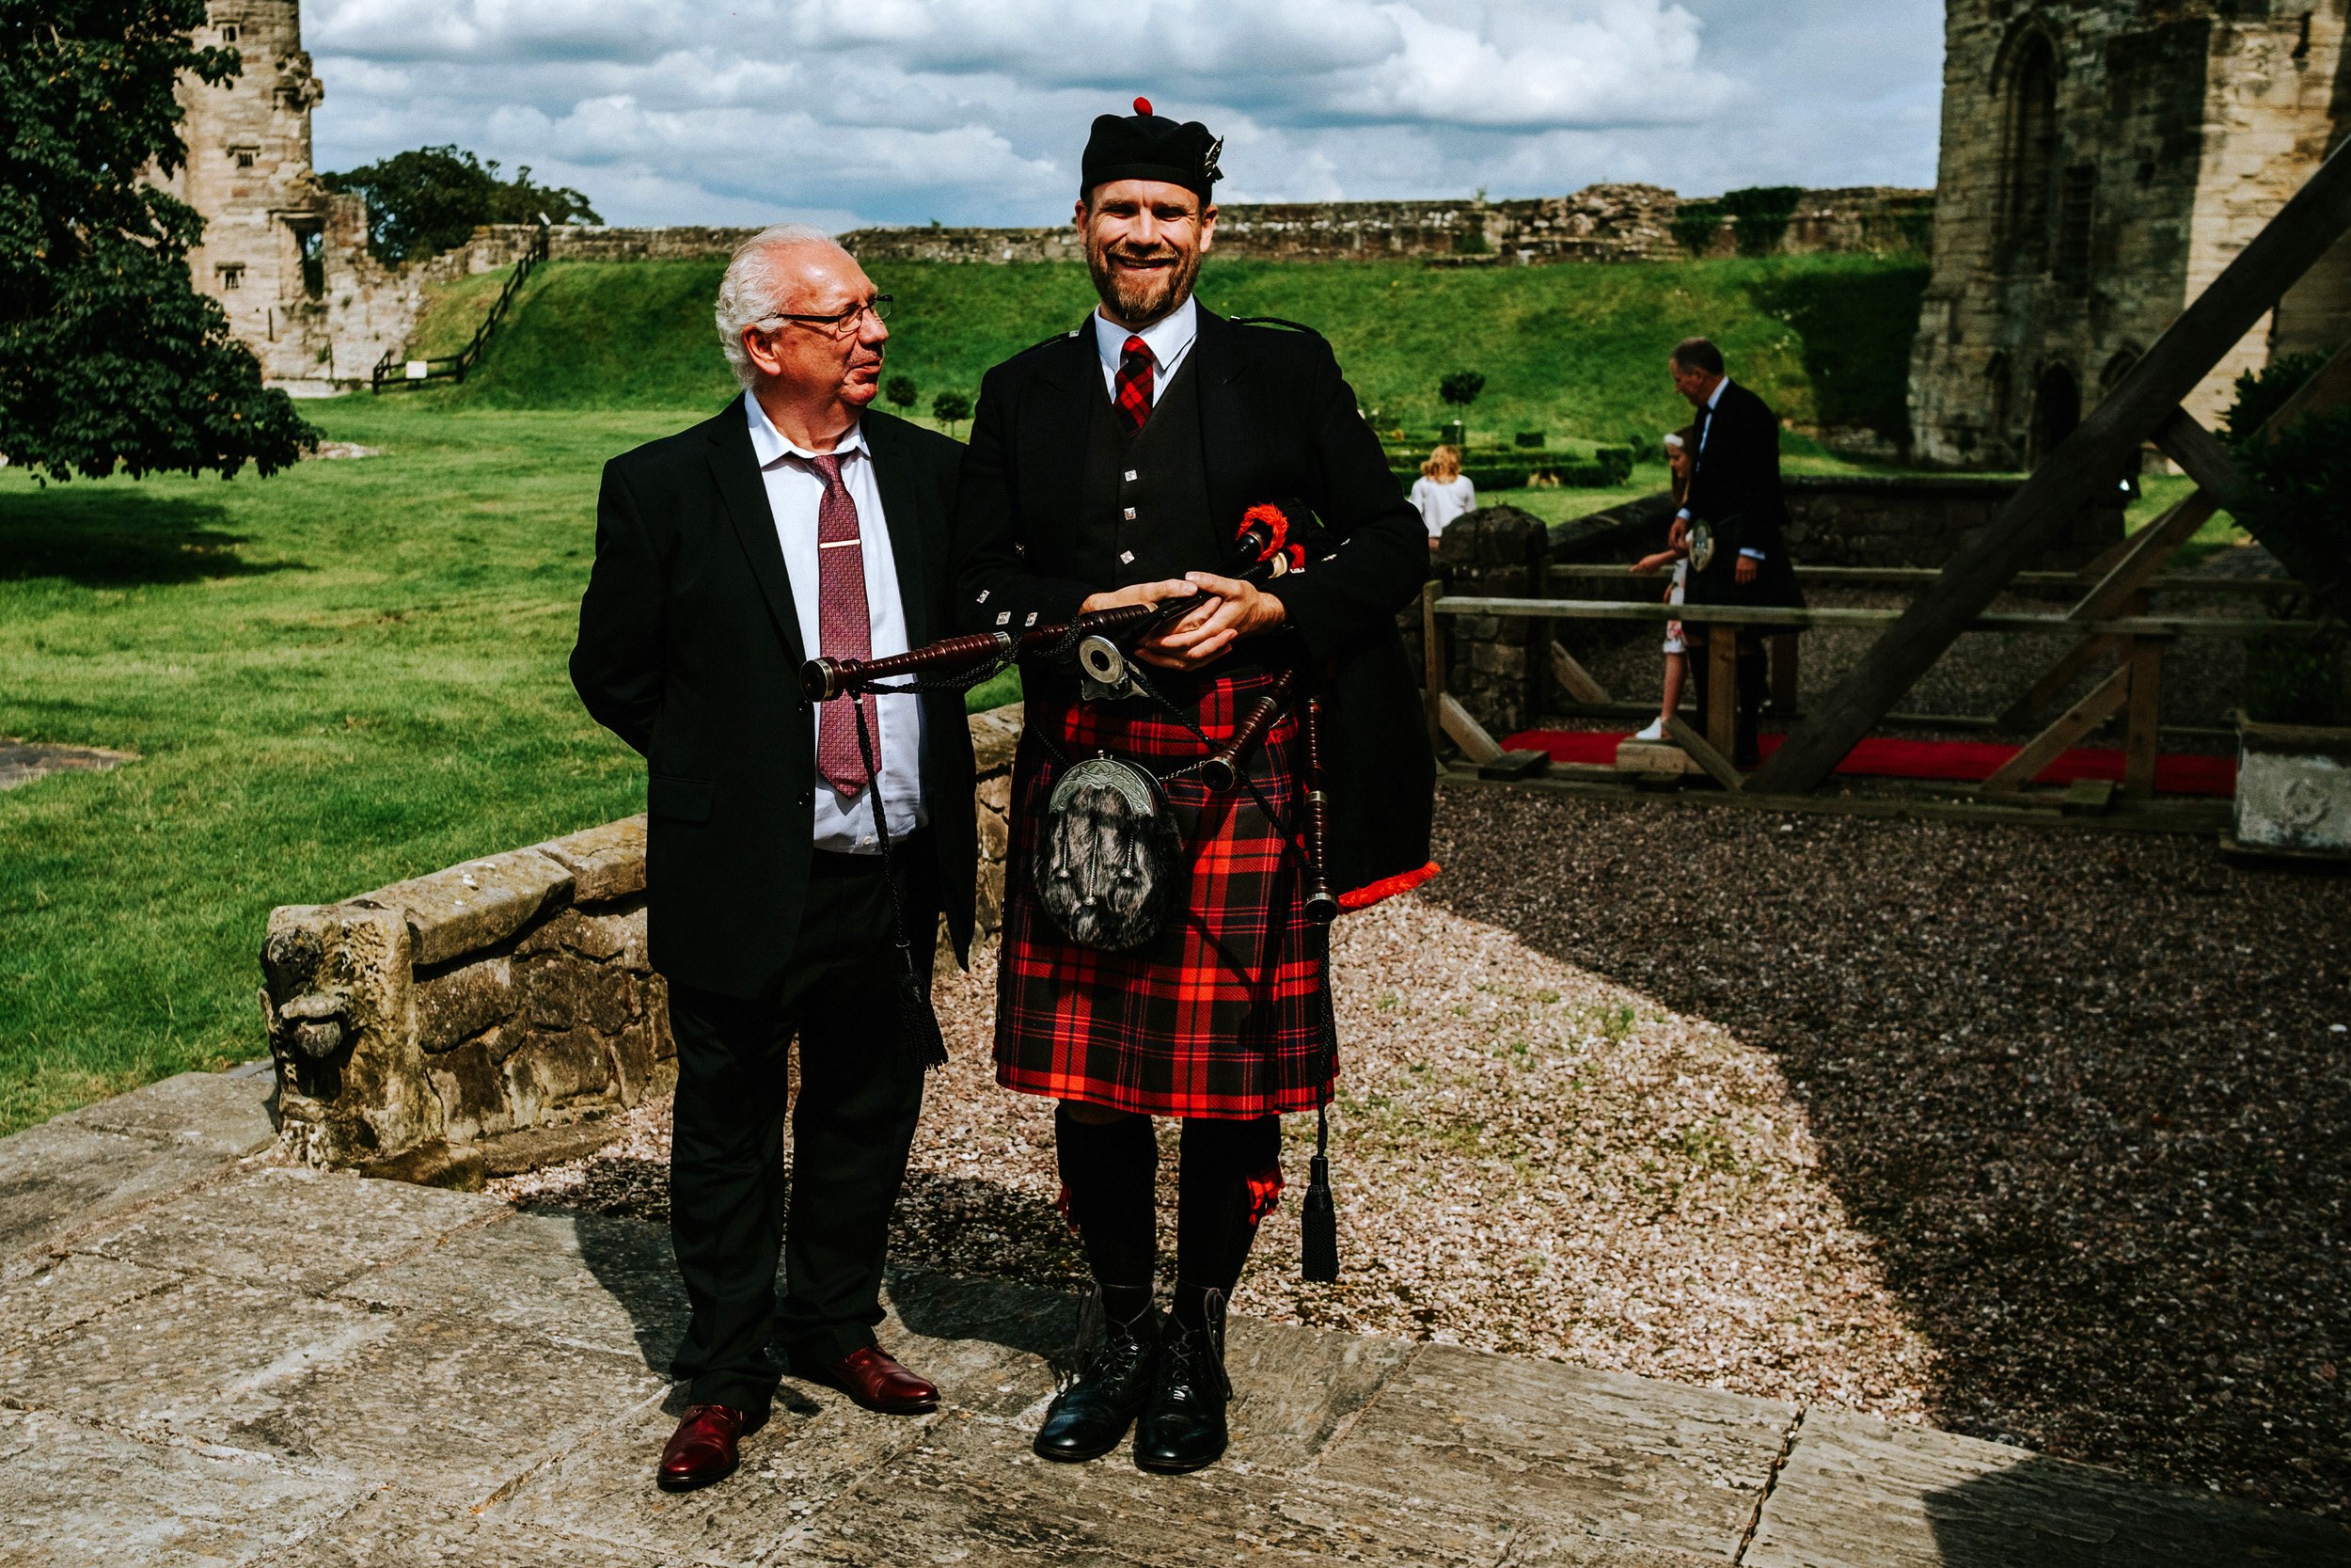
[[[609,223],[1060,223],[1086,122],[1218,197],[1933,186],[1940,0],[308,0],[315,162],[456,141]]]

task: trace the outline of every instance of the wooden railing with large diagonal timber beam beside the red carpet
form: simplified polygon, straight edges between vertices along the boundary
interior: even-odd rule
[[[1940,571],[1799,567],[1801,581],[1822,585],[1923,583],[1923,592],[1900,611],[1479,597],[1444,595],[1432,583],[1422,595],[1422,665],[1432,738],[1451,738],[1476,764],[1493,764],[1502,757],[1493,736],[1444,686],[1444,616],[1686,621],[1693,625],[1768,628],[1784,649],[1791,649],[1794,632],[1803,628],[1881,625],[1883,635],[1846,679],[1749,776],[1733,769],[1728,759],[1735,724],[1733,703],[1714,701],[1707,705],[1709,733],[1704,736],[1679,719],[1669,726],[1681,748],[1723,788],[1782,797],[1810,795],[1862,736],[1893,715],[1895,703],[1918,684],[1918,677],[1956,637],[1968,632],[2064,632],[2074,637],[2071,649],[1996,724],[2022,724],[2038,717],[2102,661],[2114,661],[2111,672],[2027,741],[2005,766],[1980,785],[1980,792],[1994,799],[2015,799],[2062,750],[2121,715],[2125,722],[2123,795],[2144,799],[2154,792],[2156,708],[2163,649],[2170,639],[2316,632],[2332,625],[2330,621],[2269,616],[2156,616],[2149,614],[2149,595],[2182,590],[2269,595],[2318,588],[2320,599],[2327,599],[2344,590],[2344,585],[2309,585],[2292,578],[2186,578],[2163,574],[2163,564],[2212,515],[2231,510],[2241,494],[2229,449],[2196,423],[2179,407],[2179,400],[2346,230],[2351,230],[2351,143],[2337,148],[2222,275],[2179,313],[2121,386],[2034,468],[1998,515],[1961,541],[1949,564]],[[2285,430],[2304,414],[2337,409],[2344,402],[2351,402],[2351,346],[2339,348],[2285,407],[2271,414],[2264,433]],[[2038,557],[2057,531],[2106,487],[2106,475],[2114,475],[2146,442],[2170,456],[2196,482],[2196,489],[2083,574],[2027,571],[2027,562]],[[1552,567],[1549,576],[1622,581],[1625,569]],[[2081,590],[2081,597],[2064,614],[1991,614],[1991,602],[2012,588]],[[1735,689],[1737,639],[1737,632],[1707,637],[1707,679],[1716,693]],[[1613,705],[1606,689],[1559,642],[1552,642],[1552,670],[1570,698],[1592,708]],[[1780,696],[1789,698],[1787,705],[1791,705],[1794,679],[1782,679],[1777,668],[1773,675]]]

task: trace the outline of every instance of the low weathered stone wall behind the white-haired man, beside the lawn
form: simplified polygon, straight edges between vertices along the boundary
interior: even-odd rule
[[[1020,710],[973,715],[971,738],[987,938]],[[261,971],[280,1135],[313,1164],[468,1182],[677,1081],[642,816],[273,910]]]

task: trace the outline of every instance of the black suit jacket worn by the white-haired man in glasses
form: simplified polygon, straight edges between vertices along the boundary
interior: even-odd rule
[[[907,639],[922,646],[952,618],[962,447],[877,409],[863,425]],[[806,656],[741,400],[604,465],[571,684],[651,771],[651,959],[679,985],[757,997],[792,959],[816,832]],[[962,696],[922,703],[922,792],[962,954],[978,844],[971,731]]]

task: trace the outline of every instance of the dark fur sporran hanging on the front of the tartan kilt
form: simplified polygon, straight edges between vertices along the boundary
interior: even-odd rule
[[[1117,757],[1079,762],[1046,797],[1030,882],[1072,943],[1124,952],[1159,936],[1183,835],[1159,780]]]

